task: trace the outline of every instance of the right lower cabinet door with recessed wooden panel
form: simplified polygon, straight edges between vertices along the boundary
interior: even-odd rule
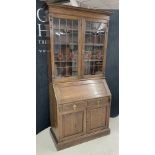
[[[104,129],[107,126],[107,106],[87,109],[87,132]]]

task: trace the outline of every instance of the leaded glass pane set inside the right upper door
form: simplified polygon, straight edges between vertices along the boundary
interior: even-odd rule
[[[102,74],[105,24],[102,22],[86,22],[84,74]]]

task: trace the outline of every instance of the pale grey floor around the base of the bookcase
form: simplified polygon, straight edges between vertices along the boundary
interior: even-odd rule
[[[57,151],[47,128],[36,136],[37,155],[118,155],[119,117],[110,118],[111,134]]]

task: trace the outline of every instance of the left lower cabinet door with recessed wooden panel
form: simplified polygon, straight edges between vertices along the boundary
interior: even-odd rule
[[[65,113],[61,115],[61,139],[80,136],[85,133],[85,110]]]

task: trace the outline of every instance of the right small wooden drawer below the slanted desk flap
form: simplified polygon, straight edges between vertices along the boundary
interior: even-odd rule
[[[108,103],[110,103],[109,97],[92,99],[88,101],[88,108],[102,107]]]

